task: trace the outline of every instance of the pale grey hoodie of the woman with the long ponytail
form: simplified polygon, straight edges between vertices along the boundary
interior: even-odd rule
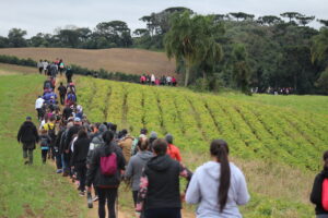
[[[249,201],[249,194],[243,172],[232,162],[231,185],[227,202],[222,213],[219,208],[218,190],[220,178],[220,164],[209,161],[197,168],[186,193],[188,204],[199,204],[197,218],[241,218],[238,205]]]

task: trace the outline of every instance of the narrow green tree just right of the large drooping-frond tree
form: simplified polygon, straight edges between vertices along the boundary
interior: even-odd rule
[[[235,85],[245,94],[250,94],[249,85],[251,72],[248,64],[247,51],[243,44],[236,44],[233,48],[233,80]]]

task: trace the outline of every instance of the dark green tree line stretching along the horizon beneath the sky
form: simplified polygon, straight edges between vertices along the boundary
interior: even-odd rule
[[[249,93],[291,87],[297,94],[328,94],[327,26],[312,15],[280,16],[231,12],[200,15],[187,8],[168,8],[142,16],[133,33],[122,21],[102,22],[94,29],[67,26],[55,34],[12,28],[1,47],[70,47],[85,49],[143,48],[165,50],[177,61],[185,85],[202,90],[224,87]]]

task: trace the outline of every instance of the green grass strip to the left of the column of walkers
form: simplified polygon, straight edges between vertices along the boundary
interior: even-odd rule
[[[55,169],[42,165],[34,150],[34,165],[24,166],[16,132],[26,116],[35,117],[34,100],[43,76],[0,76],[0,217],[84,217],[79,196]]]

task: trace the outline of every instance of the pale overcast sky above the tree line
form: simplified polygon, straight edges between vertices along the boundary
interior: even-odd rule
[[[145,27],[139,19],[169,7],[187,7],[200,14],[246,12],[279,15],[296,11],[328,20],[327,0],[0,0],[0,35],[12,27],[54,34],[57,27],[75,25],[93,29],[99,22],[121,20],[131,29]],[[312,26],[319,27],[317,22]]]

